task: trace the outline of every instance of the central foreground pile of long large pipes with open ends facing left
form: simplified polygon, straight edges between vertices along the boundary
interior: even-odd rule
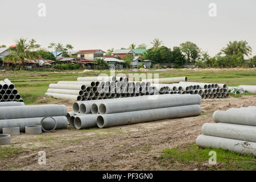
[[[196,116],[201,113],[199,95],[163,94],[114,98],[107,100],[77,101],[67,118],[76,129],[129,125],[160,119]]]

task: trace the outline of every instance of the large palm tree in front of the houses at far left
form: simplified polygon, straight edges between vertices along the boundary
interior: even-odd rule
[[[16,40],[16,46],[9,48],[9,54],[5,56],[4,61],[6,63],[19,63],[20,70],[22,70],[22,63],[24,60],[38,59],[38,54],[35,51],[31,51],[34,47],[31,44],[26,43],[27,39],[20,38]]]

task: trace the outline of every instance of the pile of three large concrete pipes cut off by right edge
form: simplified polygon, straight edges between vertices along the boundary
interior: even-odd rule
[[[217,110],[213,121],[202,126],[196,144],[256,156],[256,106]]]

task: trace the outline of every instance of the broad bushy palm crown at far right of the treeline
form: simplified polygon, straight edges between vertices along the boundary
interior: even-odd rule
[[[228,44],[226,44],[226,47],[222,48],[221,51],[230,56],[237,55],[238,53],[249,56],[251,55],[252,49],[250,46],[248,46],[246,40],[241,40],[240,42],[235,40],[234,42],[230,41]]]

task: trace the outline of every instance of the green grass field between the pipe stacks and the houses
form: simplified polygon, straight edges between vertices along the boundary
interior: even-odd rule
[[[24,102],[26,104],[34,104],[39,96],[44,95],[48,89],[48,85],[56,83],[57,81],[76,81],[80,76],[97,76],[100,73],[107,73],[109,71],[94,71],[94,72],[81,72],[79,71],[65,71],[65,72],[47,72],[47,71],[21,71],[21,72],[7,72],[0,74],[0,80],[9,78],[18,89]],[[145,72],[132,72],[129,70],[124,72],[128,73],[145,73]],[[228,86],[238,85],[256,85],[256,71],[153,71],[153,75],[159,74],[161,77],[180,77],[187,76],[188,81],[196,82],[217,82],[225,83]]]

